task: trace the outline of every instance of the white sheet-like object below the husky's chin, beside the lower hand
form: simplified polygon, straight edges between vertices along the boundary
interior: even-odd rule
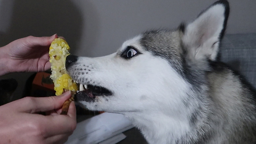
[[[66,144],[95,144],[109,138],[111,141],[133,127],[131,121],[121,114],[103,113],[80,122]]]

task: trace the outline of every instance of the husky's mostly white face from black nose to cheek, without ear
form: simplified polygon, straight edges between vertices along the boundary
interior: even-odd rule
[[[166,44],[170,51],[178,51],[179,32],[166,31],[172,39]],[[156,37],[158,32],[145,34]],[[153,110],[159,106],[180,103],[175,93],[186,89],[185,81],[172,68],[170,61],[163,59],[157,45],[145,47],[145,35],[137,36],[123,43],[116,53],[99,58],[68,56],[66,65],[70,76],[77,83],[86,85],[86,90],[78,92],[76,99],[91,110],[104,110],[115,113],[126,111]],[[162,39],[155,39],[161,43]],[[143,43],[143,44],[142,44]],[[150,50],[149,50],[150,49]],[[176,49],[176,50],[174,50]],[[73,57],[73,58],[72,58]],[[166,99],[170,93],[171,99]]]

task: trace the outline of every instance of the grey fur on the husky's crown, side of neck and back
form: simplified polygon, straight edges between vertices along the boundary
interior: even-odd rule
[[[194,109],[190,115],[193,131],[176,143],[255,143],[255,90],[221,62],[205,59],[204,67],[191,63],[186,59],[183,33],[186,30],[153,30],[141,39],[147,51],[168,60],[194,86],[195,93],[188,94],[184,101],[188,109]],[[195,100],[200,101],[197,107],[191,105]]]

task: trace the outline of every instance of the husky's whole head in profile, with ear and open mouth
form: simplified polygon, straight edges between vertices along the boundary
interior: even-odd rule
[[[147,31],[105,57],[69,55],[67,71],[80,84],[77,101],[115,113],[163,108],[180,113],[191,85],[200,88],[197,72],[217,57],[228,13],[228,2],[218,1],[188,25]]]

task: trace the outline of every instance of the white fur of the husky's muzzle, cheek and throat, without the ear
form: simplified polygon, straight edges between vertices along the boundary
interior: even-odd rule
[[[78,59],[81,67],[91,67],[86,78],[114,92],[110,97],[97,97],[96,102],[80,102],[91,110],[124,114],[149,143],[173,143],[189,130],[190,111],[180,103],[190,86],[166,60],[143,50],[139,39],[126,41],[117,53],[105,57]],[[130,60],[121,58],[118,53],[129,45],[142,54]]]

